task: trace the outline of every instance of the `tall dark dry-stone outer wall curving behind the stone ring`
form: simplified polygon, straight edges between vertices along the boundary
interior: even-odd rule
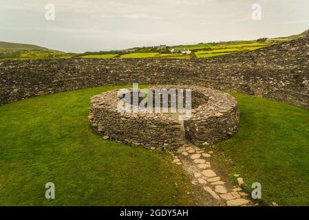
[[[0,104],[103,85],[200,85],[309,109],[309,39],[207,59],[0,61]]]

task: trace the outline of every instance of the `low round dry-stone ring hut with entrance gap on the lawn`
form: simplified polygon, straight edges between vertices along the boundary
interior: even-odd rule
[[[162,85],[149,87],[150,91],[158,89],[175,89],[178,91],[191,89],[191,111],[189,117],[180,120],[180,113],[163,113],[156,111],[138,111],[138,105],[143,99],[138,98],[138,104],[129,105],[129,112],[119,111],[120,89],[98,94],[91,98],[89,123],[101,135],[109,136],[111,140],[133,146],[151,149],[173,150],[183,144],[185,138],[196,146],[209,146],[226,140],[239,130],[239,110],[233,96],[222,91],[206,87],[187,85]],[[134,89],[128,88],[127,94],[133,94]],[[142,92],[138,90],[138,94]],[[154,99],[154,96],[153,96]],[[182,98],[186,106],[186,96]],[[168,106],[171,107],[171,96]],[[155,101],[153,100],[153,103]],[[179,102],[178,102],[179,103]],[[147,106],[147,105],[146,105]],[[162,110],[162,96],[160,98]],[[151,109],[153,107],[151,106]]]

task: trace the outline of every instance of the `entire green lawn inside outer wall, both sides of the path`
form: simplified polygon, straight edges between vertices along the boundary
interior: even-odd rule
[[[89,128],[89,98],[114,88],[0,107],[0,206],[192,204],[189,179],[167,154],[103,141]],[[260,182],[266,201],[309,206],[309,112],[233,96],[239,102],[240,131],[216,144],[215,155],[232,159],[226,166],[231,175],[240,173],[248,184]],[[44,197],[47,181],[56,184],[54,201]]]

